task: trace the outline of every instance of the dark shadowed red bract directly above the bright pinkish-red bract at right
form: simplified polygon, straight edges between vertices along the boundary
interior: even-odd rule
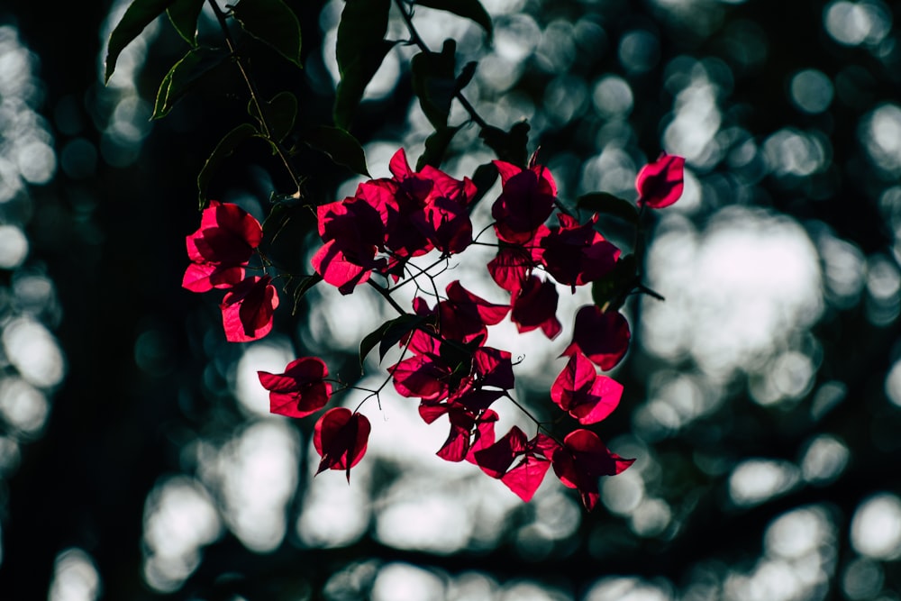
[[[576,314],[572,342],[560,356],[581,352],[605,371],[614,369],[629,349],[629,322],[617,311],[586,305]]]

